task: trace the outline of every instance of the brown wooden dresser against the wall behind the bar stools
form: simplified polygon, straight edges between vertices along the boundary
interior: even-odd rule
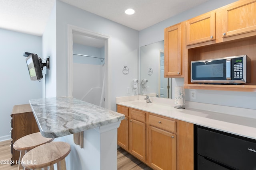
[[[13,143],[21,137],[39,132],[39,129],[29,104],[15,105],[12,108],[11,117],[11,160],[16,164],[16,161],[19,160],[20,151],[13,149]]]

